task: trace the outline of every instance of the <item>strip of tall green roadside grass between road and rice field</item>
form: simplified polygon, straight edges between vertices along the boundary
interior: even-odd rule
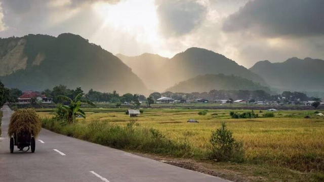
[[[61,125],[55,119],[43,119],[43,127],[77,139],[86,140],[116,149],[134,150],[175,157],[198,155],[186,141],[173,141],[160,131],[141,127],[135,121],[125,126],[100,121],[80,121]]]

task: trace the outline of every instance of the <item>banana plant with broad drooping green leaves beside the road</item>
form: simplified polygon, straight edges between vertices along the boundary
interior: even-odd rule
[[[73,100],[66,96],[58,96],[58,99],[69,102],[68,106],[63,105],[62,108],[68,113],[67,121],[68,123],[73,123],[75,121],[75,116],[79,115],[86,118],[86,113],[80,109],[81,104],[89,104],[91,106],[96,106],[94,103],[88,100],[83,100],[83,93],[78,94]]]

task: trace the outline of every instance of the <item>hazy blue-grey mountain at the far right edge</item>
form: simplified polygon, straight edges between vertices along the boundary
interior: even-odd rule
[[[324,61],[320,59],[290,58],[282,63],[259,61],[250,70],[278,91],[324,90]]]

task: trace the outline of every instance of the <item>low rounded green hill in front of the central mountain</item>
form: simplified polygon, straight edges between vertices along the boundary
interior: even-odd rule
[[[234,75],[207,74],[199,75],[186,81],[181,81],[167,89],[173,93],[209,92],[210,90],[265,90],[270,93],[270,88],[260,83]]]

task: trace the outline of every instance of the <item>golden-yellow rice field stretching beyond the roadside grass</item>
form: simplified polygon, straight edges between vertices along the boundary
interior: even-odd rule
[[[43,117],[52,117],[51,110],[37,110]],[[324,117],[315,110],[275,112],[273,118],[262,118],[266,111],[254,111],[260,118],[231,119],[232,110],[208,110],[198,115],[199,109],[144,109],[140,117],[130,118],[126,109],[85,109],[87,118],[79,121],[102,121],[126,125],[136,121],[143,127],[158,129],[175,141],[189,142],[193,148],[207,151],[212,130],[225,121],[236,140],[242,141],[248,163],[288,167],[297,171],[324,170]],[[251,110],[233,110],[246,112]],[[323,110],[318,112],[324,113]],[[309,116],[310,118],[304,118]],[[198,123],[188,123],[195,119]]]

